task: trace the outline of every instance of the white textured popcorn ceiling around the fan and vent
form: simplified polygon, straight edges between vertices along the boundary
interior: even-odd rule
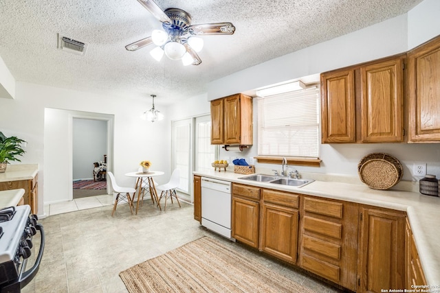
[[[203,36],[199,66],[184,67],[154,45],[125,45],[162,27],[136,0],[1,0],[0,56],[17,81],[156,104],[205,92],[204,86],[236,71],[408,12],[421,0],[156,0],[181,8],[192,24],[230,21],[232,36]],[[57,34],[88,43],[85,56],[57,49]]]

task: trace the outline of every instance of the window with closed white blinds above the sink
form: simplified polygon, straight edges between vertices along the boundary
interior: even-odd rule
[[[319,89],[259,97],[257,102],[259,156],[318,158]]]

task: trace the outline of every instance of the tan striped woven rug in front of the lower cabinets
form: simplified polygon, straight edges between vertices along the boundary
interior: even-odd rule
[[[203,237],[119,274],[135,292],[314,293],[219,242]]]

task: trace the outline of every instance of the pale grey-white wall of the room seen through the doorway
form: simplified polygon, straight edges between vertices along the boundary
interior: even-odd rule
[[[74,118],[72,144],[74,180],[93,178],[93,163],[107,154],[107,121]]]

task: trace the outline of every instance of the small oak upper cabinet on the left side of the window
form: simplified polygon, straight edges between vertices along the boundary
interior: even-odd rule
[[[252,97],[238,93],[211,101],[211,144],[252,145]]]

